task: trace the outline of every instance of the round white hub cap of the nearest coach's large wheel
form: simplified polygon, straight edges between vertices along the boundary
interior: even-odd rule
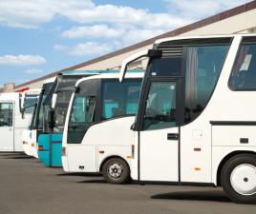
[[[230,183],[239,194],[253,195],[256,193],[256,166],[236,166],[231,173]]]

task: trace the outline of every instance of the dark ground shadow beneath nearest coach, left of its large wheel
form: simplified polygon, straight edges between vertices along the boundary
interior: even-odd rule
[[[231,202],[229,198],[224,195],[222,190],[168,192],[153,195],[151,198],[163,200],[211,201],[223,203]]]

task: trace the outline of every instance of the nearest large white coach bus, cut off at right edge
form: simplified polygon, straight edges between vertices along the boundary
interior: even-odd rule
[[[132,179],[222,185],[256,202],[256,35],[173,37],[149,57],[134,130]]]

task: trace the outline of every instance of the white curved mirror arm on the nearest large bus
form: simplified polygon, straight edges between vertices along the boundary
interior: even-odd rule
[[[142,57],[161,57],[161,50],[160,49],[144,49],[130,57],[128,57],[127,59],[125,59],[122,62],[121,68],[120,68],[120,76],[119,76],[119,82],[122,83],[127,67],[130,63],[135,62],[137,60],[139,60]]]

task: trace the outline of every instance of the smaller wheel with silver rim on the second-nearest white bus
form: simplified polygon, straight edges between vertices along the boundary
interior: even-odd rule
[[[130,167],[120,158],[109,159],[102,167],[102,174],[111,184],[122,185],[131,181]]]

